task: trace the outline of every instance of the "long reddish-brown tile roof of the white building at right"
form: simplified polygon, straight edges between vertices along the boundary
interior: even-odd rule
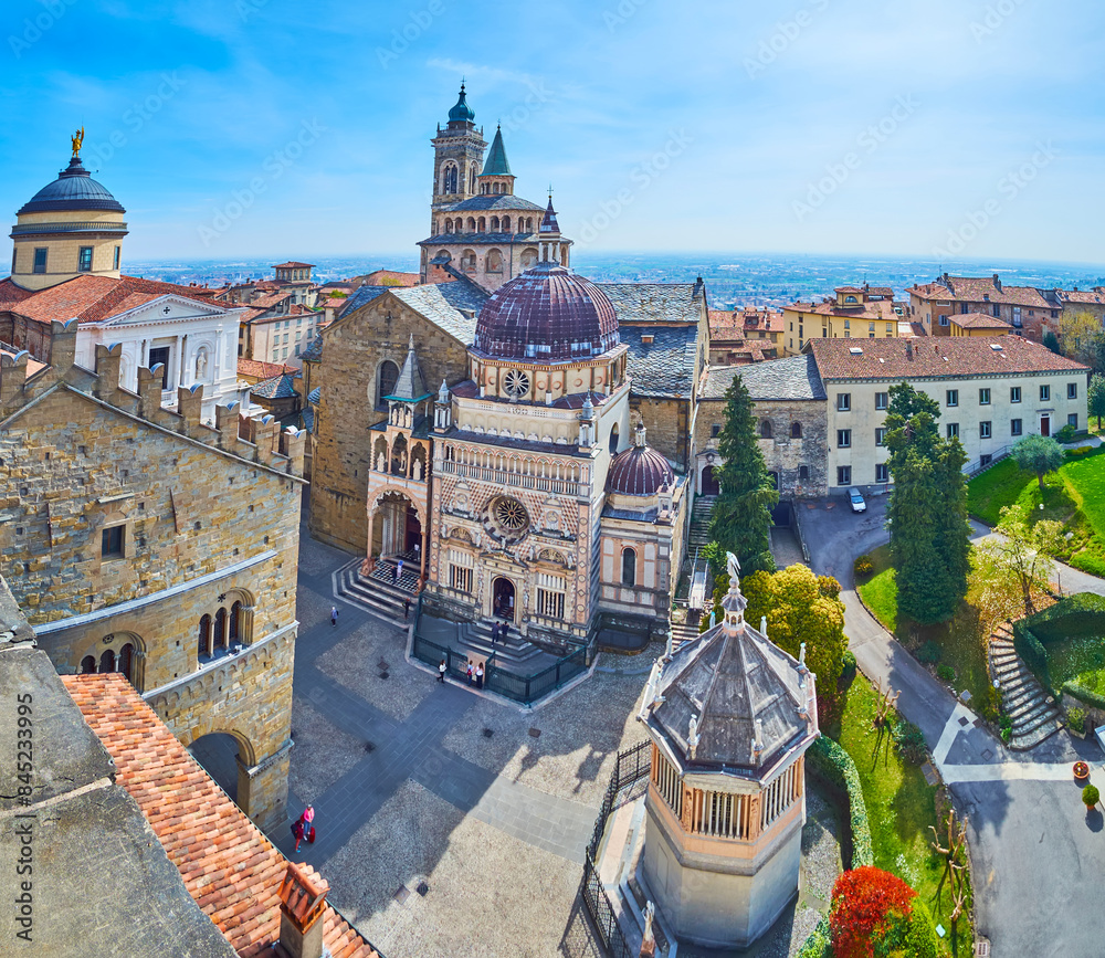
[[[827,380],[970,379],[1018,372],[1082,373],[1088,369],[1020,336],[1003,336],[1000,340],[990,336],[811,339],[806,348],[813,352],[821,377]]]

